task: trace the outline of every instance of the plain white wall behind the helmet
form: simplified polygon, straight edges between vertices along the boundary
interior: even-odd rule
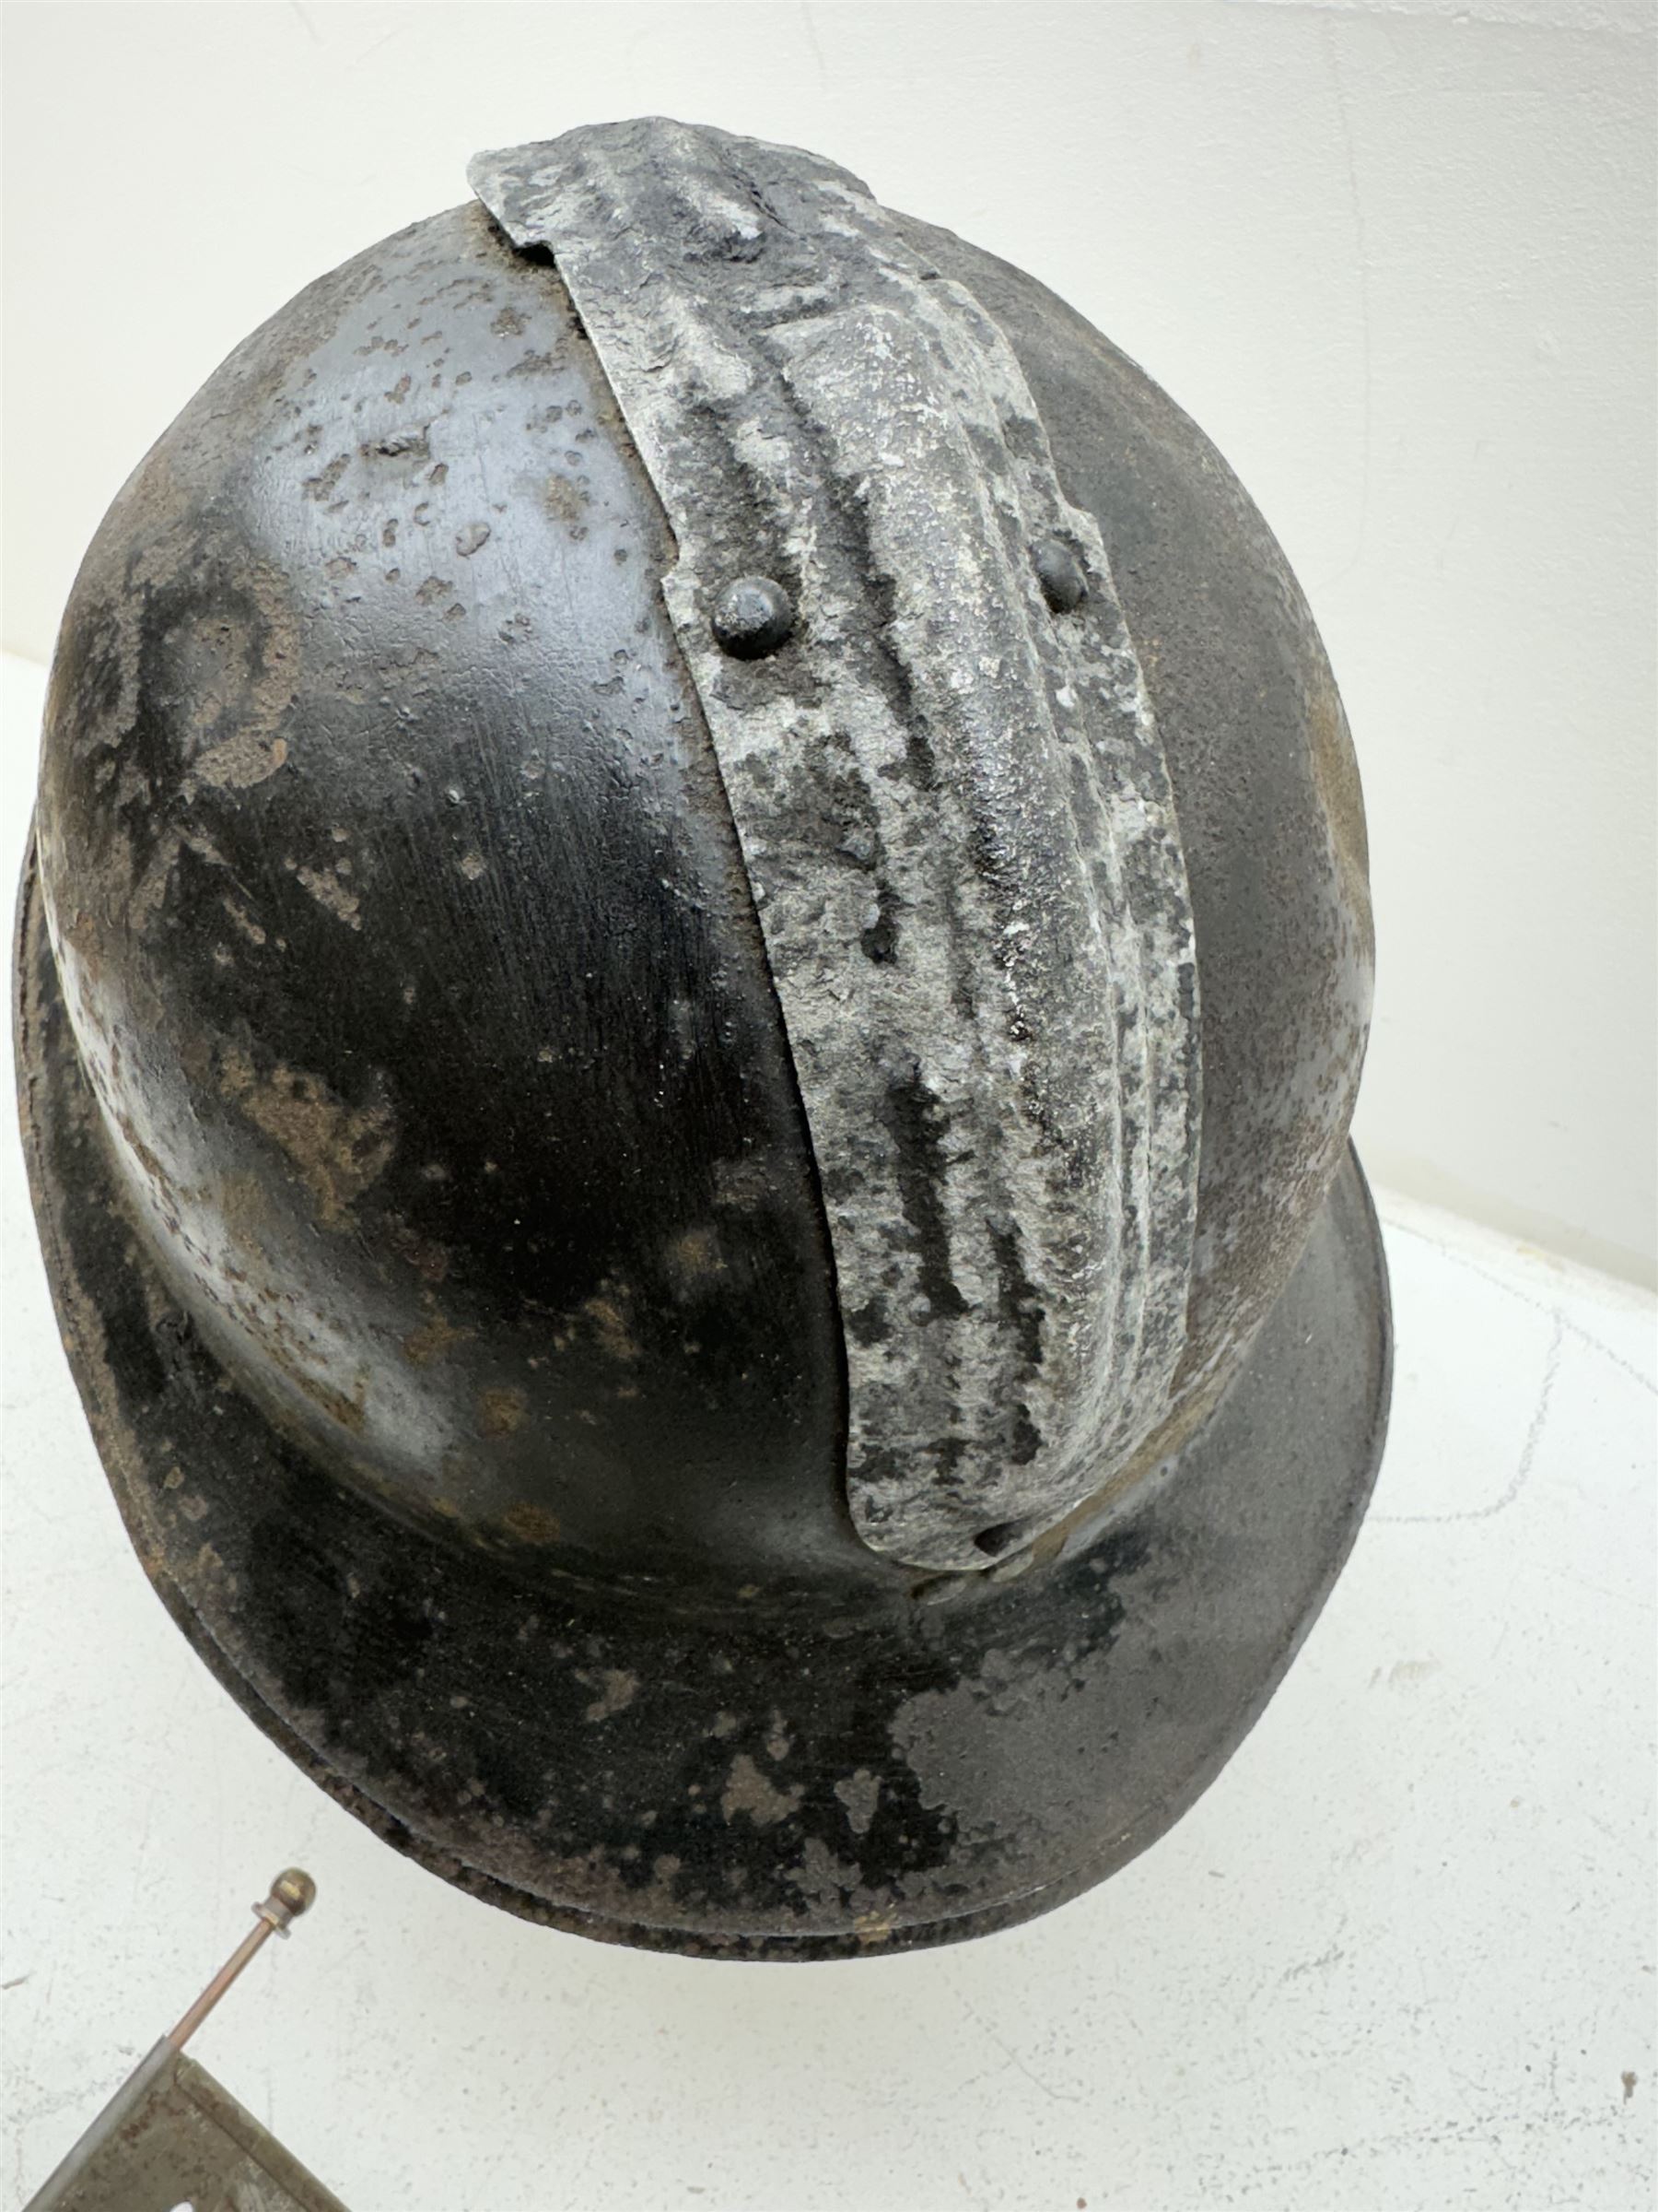
[[[230,345],[478,146],[650,111],[814,146],[1068,294],[1284,540],[1371,805],[1373,1172],[1654,1276],[1649,7],[294,0],[4,38],[13,650]]]

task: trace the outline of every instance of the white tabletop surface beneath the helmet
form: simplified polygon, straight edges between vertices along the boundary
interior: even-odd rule
[[[7,664],[22,845],[40,675]],[[18,2205],[250,1924],[192,2046],[351,2212],[1651,2203],[1654,1303],[1382,1194],[1393,1438],[1220,1781],[1032,1927],[833,1966],[550,1936],[301,1778],[161,1613],[0,1144]]]

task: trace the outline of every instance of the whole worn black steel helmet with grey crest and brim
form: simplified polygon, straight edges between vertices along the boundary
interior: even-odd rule
[[[1238,1745],[1388,1394],[1300,591],[1035,279],[632,122],[323,276],[99,529],[22,1115],[166,1606],[531,1920],[893,1951]]]

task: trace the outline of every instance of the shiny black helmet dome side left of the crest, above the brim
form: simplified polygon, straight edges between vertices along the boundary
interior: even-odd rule
[[[86,557],[53,945],[155,1252],[334,1467],[522,1564],[862,1571],[668,557],[550,265],[460,208],[336,270]]]

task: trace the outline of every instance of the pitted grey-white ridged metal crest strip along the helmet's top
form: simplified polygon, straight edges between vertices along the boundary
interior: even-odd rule
[[[856,1526],[984,1566],[1110,1478],[1185,1347],[1192,902],[1101,533],[1001,330],[844,170],[639,122],[469,175],[550,250],[676,535],[820,1164]],[[756,573],[796,633],[732,659],[714,608]]]

